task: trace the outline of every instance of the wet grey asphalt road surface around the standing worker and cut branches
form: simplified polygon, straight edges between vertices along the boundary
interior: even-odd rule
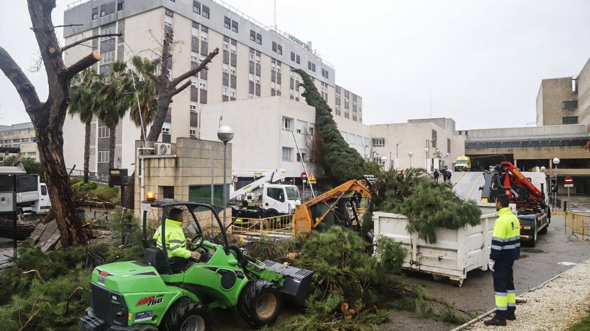
[[[521,258],[514,263],[514,284],[518,294],[549,280],[572,266],[559,262],[579,263],[590,259],[590,241],[569,238],[563,231],[563,215],[554,215],[547,234],[539,236],[536,247],[522,247]],[[436,282],[430,274],[405,273],[416,284],[424,285],[433,297],[446,299],[455,306],[469,311],[486,312],[494,307],[491,272],[473,270],[467,274],[462,287],[455,287],[447,279]],[[285,304],[279,320],[302,312],[291,304]],[[235,310],[214,310],[215,330],[248,330]],[[450,330],[455,325],[422,319],[413,313],[394,312],[394,320],[380,326],[388,331]]]

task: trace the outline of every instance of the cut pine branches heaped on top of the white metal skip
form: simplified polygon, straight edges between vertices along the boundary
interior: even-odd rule
[[[474,201],[465,201],[454,193],[450,183],[437,183],[423,169],[389,170],[373,186],[369,212],[363,216],[363,231],[373,229],[372,211],[404,214],[406,229],[418,233],[428,243],[437,241],[437,227],[458,229],[481,222],[481,210]]]

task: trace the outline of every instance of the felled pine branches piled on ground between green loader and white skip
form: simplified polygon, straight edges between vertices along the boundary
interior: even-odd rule
[[[405,255],[399,243],[379,237],[374,244],[379,258],[366,253],[368,246],[358,233],[343,227],[314,231],[306,238],[247,244],[248,253],[256,259],[272,258],[314,271],[314,289],[304,313],[268,329],[370,330],[395,319],[391,309],[451,323],[471,317],[470,312],[430,297],[397,275]]]

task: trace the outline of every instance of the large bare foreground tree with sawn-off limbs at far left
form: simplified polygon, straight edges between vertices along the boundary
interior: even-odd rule
[[[42,172],[47,181],[51,198],[51,210],[55,214],[61,233],[61,244],[86,244],[88,236],[78,216],[68,173],[65,170],[62,127],[67,114],[70,81],[78,72],[100,60],[97,52],[91,52],[67,67],[62,58],[65,49],[75,47],[94,38],[113,37],[120,34],[94,35],[60,47],[51,21],[55,0],[28,0],[32,31],[37,39],[41,58],[47,73],[49,96],[41,101],[37,90],[14,59],[0,47],[0,69],[12,82],[21,97],[27,114],[35,128]]]

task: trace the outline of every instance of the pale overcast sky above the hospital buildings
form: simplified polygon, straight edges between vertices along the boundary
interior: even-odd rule
[[[273,0],[226,0],[273,24]],[[72,0],[58,0],[54,25]],[[363,97],[363,122],[451,117],[457,130],[535,121],[543,78],[590,57],[590,1],[277,0],[278,28],[312,41],[336,84]],[[2,1],[0,45],[28,72],[38,57],[24,0]],[[61,29],[58,29],[61,36]],[[44,72],[28,75],[47,97]],[[30,121],[0,73],[0,124]]]

